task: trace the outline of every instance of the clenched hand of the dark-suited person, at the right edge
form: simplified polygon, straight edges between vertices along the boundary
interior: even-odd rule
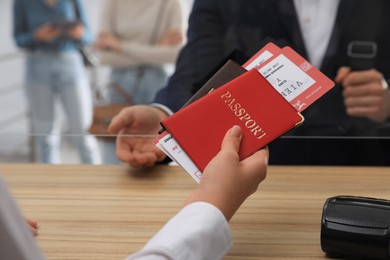
[[[375,70],[339,69],[335,81],[343,86],[347,114],[382,123],[390,116],[390,92],[383,75]]]

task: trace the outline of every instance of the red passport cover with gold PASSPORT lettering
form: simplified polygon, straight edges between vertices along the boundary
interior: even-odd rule
[[[161,123],[203,172],[226,131],[240,125],[240,160],[303,122],[303,117],[252,69]]]

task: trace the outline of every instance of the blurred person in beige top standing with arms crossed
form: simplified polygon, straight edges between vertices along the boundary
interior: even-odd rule
[[[169,76],[184,41],[179,0],[110,0],[103,9],[94,44],[101,63],[111,67],[109,104],[147,104]],[[103,162],[121,163],[115,140],[105,138]]]

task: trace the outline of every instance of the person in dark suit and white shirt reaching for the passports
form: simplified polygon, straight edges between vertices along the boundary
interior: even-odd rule
[[[158,105],[124,109],[109,130],[156,134],[166,108],[179,110],[224,58],[238,51],[231,57],[242,63],[272,38],[286,42],[338,85],[304,111],[302,126],[270,145],[270,163],[387,164],[383,145],[354,137],[388,134],[388,11],[385,0],[197,0],[188,43],[168,85],[156,96]],[[310,19],[318,20],[310,24]],[[164,158],[150,140],[118,137],[117,143],[118,158],[132,166],[151,166]]]

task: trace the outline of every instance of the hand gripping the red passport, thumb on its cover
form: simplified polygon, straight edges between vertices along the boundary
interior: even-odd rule
[[[186,205],[196,201],[211,203],[229,221],[241,204],[257,190],[267,174],[268,148],[239,161],[241,139],[239,126],[228,130],[221,151],[207,165],[198,188],[189,196]]]

